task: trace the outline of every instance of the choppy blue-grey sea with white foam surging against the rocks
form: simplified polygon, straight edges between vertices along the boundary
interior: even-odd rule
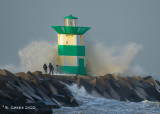
[[[53,109],[53,114],[160,114],[160,102],[129,102],[93,97],[87,94],[84,87],[76,84],[67,87],[80,101],[79,107],[62,107]]]

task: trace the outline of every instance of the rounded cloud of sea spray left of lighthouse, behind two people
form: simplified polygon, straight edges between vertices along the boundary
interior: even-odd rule
[[[32,42],[18,52],[22,71],[42,71],[44,63],[56,65],[57,52],[57,45],[46,41]]]

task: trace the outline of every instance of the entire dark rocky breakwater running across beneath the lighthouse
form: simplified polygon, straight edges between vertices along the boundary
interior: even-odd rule
[[[160,101],[160,82],[151,76],[51,76],[40,71],[13,74],[0,70],[0,111],[2,114],[49,114],[54,108],[79,106],[63,83],[83,86],[88,94],[107,99]]]

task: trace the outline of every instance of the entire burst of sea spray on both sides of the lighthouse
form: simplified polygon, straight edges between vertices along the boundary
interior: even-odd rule
[[[143,47],[136,43],[124,46],[107,47],[100,43],[86,42],[86,69],[92,76],[106,73],[124,74],[130,70],[130,65]],[[14,72],[43,71],[43,64],[57,64],[58,47],[56,43],[47,41],[33,41],[18,52],[20,65],[2,66]],[[16,70],[16,71],[15,71]]]

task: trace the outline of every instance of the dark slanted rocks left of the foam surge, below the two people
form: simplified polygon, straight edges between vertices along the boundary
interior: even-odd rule
[[[51,114],[61,106],[79,106],[68,88],[42,72],[13,74],[0,70],[0,112]]]

